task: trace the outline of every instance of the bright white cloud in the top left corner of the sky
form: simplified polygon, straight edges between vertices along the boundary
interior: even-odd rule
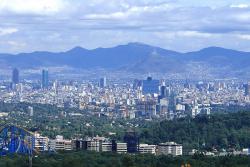
[[[48,15],[64,8],[63,0],[0,0],[1,13]]]

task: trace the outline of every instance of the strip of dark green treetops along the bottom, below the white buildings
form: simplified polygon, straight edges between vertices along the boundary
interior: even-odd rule
[[[44,154],[33,158],[34,167],[249,167],[250,157],[226,156],[167,157],[153,155],[119,155],[114,153],[68,152]],[[0,158],[1,167],[27,167],[28,157],[8,156]]]

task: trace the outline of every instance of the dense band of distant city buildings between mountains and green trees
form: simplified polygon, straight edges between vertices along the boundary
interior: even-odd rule
[[[20,81],[13,69],[12,80],[1,81],[0,100],[76,108],[108,118],[167,119],[210,115],[227,107],[249,107],[250,83],[243,80],[188,81],[153,79],[60,81],[41,71],[40,80]],[[81,113],[71,113],[81,114]]]

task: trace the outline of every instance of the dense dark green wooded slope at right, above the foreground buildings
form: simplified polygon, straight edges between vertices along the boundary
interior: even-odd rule
[[[250,112],[214,114],[195,119],[183,118],[145,124],[140,129],[142,141],[175,141],[186,148],[222,149],[250,147]]]

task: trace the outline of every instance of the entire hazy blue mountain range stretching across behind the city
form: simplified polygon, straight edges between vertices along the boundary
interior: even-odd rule
[[[25,69],[69,66],[76,69],[119,69],[136,73],[244,76],[249,75],[250,52],[209,47],[179,53],[142,43],[129,43],[93,50],[75,47],[59,53],[0,54],[0,65]]]

